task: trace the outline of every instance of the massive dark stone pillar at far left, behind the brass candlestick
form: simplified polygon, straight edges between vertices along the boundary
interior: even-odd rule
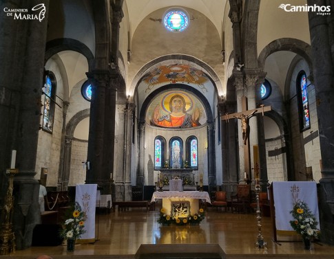
[[[44,3],[42,21],[14,20],[0,16],[0,169],[10,167],[11,150],[17,150],[14,177],[13,226],[17,249],[30,247],[32,230],[40,221],[39,184],[34,180],[36,150],[41,120],[44,53],[48,24],[49,1],[1,1],[0,10],[28,9]],[[23,58],[24,57],[24,58]],[[6,192],[6,177],[1,175],[1,194]],[[4,197],[4,195],[1,195]]]

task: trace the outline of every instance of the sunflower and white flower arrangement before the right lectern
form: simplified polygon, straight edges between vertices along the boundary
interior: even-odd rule
[[[293,221],[290,221],[290,225],[302,238],[309,240],[317,238],[319,232],[317,221],[304,201],[296,202],[290,213],[294,218]]]

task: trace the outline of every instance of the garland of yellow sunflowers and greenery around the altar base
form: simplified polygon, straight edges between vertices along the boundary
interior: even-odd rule
[[[177,218],[174,216],[169,216],[165,214],[165,210],[162,208],[160,210],[160,217],[158,218],[158,223],[162,225],[198,225],[205,218],[205,211],[201,208],[198,213],[194,215],[189,215],[187,218]]]

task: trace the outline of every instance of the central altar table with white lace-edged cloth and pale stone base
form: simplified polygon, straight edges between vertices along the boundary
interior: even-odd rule
[[[174,202],[188,202],[190,205],[190,214],[194,215],[199,210],[199,200],[211,203],[207,192],[189,191],[189,192],[154,192],[151,202],[156,199],[163,199],[163,209],[167,215],[171,215],[171,205]]]

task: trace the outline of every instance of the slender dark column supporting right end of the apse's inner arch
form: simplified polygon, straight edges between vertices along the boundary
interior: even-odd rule
[[[208,137],[208,176],[209,176],[209,190],[216,187],[216,143],[215,143],[215,124],[207,122],[207,137]],[[210,192],[209,192],[210,193]]]

